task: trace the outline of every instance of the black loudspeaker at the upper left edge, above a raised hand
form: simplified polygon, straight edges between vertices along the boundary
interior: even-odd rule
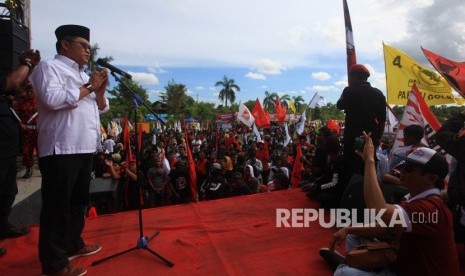
[[[19,55],[31,48],[29,29],[16,20],[0,19],[0,74],[19,65]]]

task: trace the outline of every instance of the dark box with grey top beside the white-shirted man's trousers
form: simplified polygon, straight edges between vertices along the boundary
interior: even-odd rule
[[[118,180],[94,178],[90,181],[89,199],[98,214],[111,214],[120,208]]]

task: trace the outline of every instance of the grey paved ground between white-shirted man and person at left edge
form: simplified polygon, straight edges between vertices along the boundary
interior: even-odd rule
[[[19,159],[20,160],[20,159]],[[10,214],[10,222],[13,225],[38,224],[40,216],[41,198],[40,182],[42,180],[39,167],[33,167],[32,177],[23,179],[25,170],[18,172],[18,194]]]

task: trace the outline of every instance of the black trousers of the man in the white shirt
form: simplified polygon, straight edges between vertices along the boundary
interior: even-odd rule
[[[68,264],[68,254],[84,247],[93,154],[51,155],[39,159],[42,174],[39,259],[43,273]]]

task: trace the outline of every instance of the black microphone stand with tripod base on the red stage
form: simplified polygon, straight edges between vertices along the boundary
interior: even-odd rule
[[[119,83],[121,83],[128,91],[131,92],[133,98],[134,98],[134,121],[135,121],[135,135],[136,137],[138,137],[138,130],[137,130],[137,107],[143,103],[145,107],[147,107],[147,109],[149,109],[154,115],[155,117],[160,120],[158,118],[158,116],[144,103],[144,101],[142,100],[142,98],[137,94],[135,93],[134,91],[131,90],[131,88],[128,87],[128,85],[126,85],[123,81],[121,81],[121,79],[116,76],[116,74],[114,72],[111,72],[111,74],[113,75],[113,77],[115,78],[115,80]],[[162,120],[160,120],[163,124],[165,124]],[[95,266],[95,265],[98,265],[100,263],[103,263],[107,260],[110,260],[112,258],[115,258],[115,257],[118,257],[118,256],[121,256],[121,255],[124,255],[126,253],[129,253],[129,252],[132,252],[132,251],[135,251],[137,249],[145,249],[147,250],[148,252],[152,253],[154,256],[158,257],[160,260],[162,260],[165,264],[167,264],[169,267],[172,267],[174,266],[174,263],[170,262],[169,260],[165,259],[163,256],[161,256],[160,254],[158,254],[157,252],[155,252],[154,250],[150,249],[148,247],[148,242],[150,240],[152,240],[153,238],[155,238],[159,233],[160,233],[160,230],[157,230],[155,231],[155,233],[153,233],[150,237],[146,237],[144,236],[144,227],[143,227],[143,220],[142,220],[142,204],[141,204],[141,190],[142,190],[142,187],[143,187],[143,184],[144,184],[144,173],[142,172],[142,170],[140,169],[140,160],[141,160],[141,155],[142,155],[142,150],[141,149],[141,146],[142,145],[139,145],[138,144],[138,139],[136,138],[135,139],[135,146],[136,146],[136,171],[137,171],[137,187],[138,187],[138,214],[139,214],[139,238],[137,240],[137,245],[134,246],[134,247],[131,247],[129,249],[126,249],[126,250],[123,250],[121,252],[118,252],[118,253],[115,253],[113,255],[110,255],[110,256],[107,256],[105,258],[102,258],[102,259],[99,259],[99,260],[96,260],[96,261],[93,261],[92,262],[92,265]],[[130,165],[130,164],[128,164]]]

